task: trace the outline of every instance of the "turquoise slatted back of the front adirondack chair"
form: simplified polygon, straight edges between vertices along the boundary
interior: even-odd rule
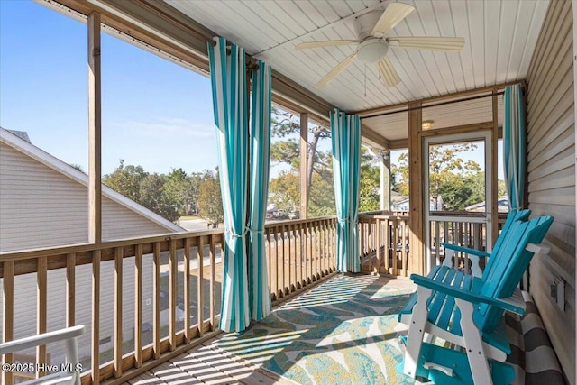
[[[527,270],[533,252],[527,251],[528,243],[541,243],[554,218],[542,216],[529,221],[511,224],[503,238],[499,256],[495,258],[487,276],[483,276],[480,294],[490,298],[508,298],[513,295]],[[490,305],[480,305],[475,312],[475,323],[481,330],[493,330],[503,316],[503,310]]]

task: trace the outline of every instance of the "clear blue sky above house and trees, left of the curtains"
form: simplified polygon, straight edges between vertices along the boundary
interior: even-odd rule
[[[103,173],[119,160],[166,173],[214,169],[210,80],[102,35]],[[87,27],[32,1],[0,0],[0,125],[87,170]]]

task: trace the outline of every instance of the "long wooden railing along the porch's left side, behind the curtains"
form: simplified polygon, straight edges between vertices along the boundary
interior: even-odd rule
[[[265,226],[273,301],[334,273],[335,225],[319,218]],[[223,242],[217,229],[2,252],[2,340],[86,325],[82,383],[122,383],[217,331]],[[60,364],[60,350],[43,346],[4,361]],[[17,377],[27,375],[5,372],[0,382]]]

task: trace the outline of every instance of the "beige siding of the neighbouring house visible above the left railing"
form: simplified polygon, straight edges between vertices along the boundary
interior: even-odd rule
[[[105,241],[173,232],[110,197],[102,213]],[[87,187],[0,142],[0,252],[87,242]]]

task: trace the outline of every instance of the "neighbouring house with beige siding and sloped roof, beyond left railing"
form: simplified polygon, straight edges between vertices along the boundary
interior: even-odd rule
[[[88,242],[88,176],[69,164],[32,145],[28,135],[0,127],[0,252],[46,248]],[[185,229],[156,215],[111,188],[102,187],[102,236],[105,241],[152,234],[183,232]],[[146,257],[145,257],[146,258]],[[124,260],[123,325],[124,340],[133,338],[134,274],[133,259]],[[132,261],[132,264],[131,264]],[[146,261],[146,259],[145,259]],[[143,322],[152,322],[151,264],[143,274]],[[87,326],[79,341],[82,353],[89,346],[91,303],[91,266],[76,270],[77,324]],[[108,283],[107,283],[108,282]],[[114,261],[101,266],[101,344],[110,344],[114,320]],[[66,325],[66,280],[64,271],[50,270],[48,330]],[[14,318],[29,322],[14,325],[14,335],[36,334],[36,275],[15,277]],[[19,299],[25,300],[19,300]],[[0,298],[1,304],[2,298]],[[0,325],[2,314],[0,314]],[[2,331],[0,330],[0,334]],[[58,347],[50,350],[52,362],[58,361]]]

